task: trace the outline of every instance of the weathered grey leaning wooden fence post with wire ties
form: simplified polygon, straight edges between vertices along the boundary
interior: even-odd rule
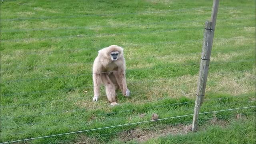
[[[200,71],[199,71],[198,84],[197,84],[197,90],[196,90],[196,102],[195,102],[194,116],[193,116],[193,122],[192,122],[193,132],[197,131],[198,114],[199,114],[200,106],[204,100],[204,93],[206,88],[206,81],[207,81],[210,57],[212,52],[212,42],[214,37],[218,5],[219,5],[219,1],[214,0],[213,6],[212,6],[211,21],[205,22],[204,42],[203,42],[203,48],[202,48],[202,54],[201,54]]]

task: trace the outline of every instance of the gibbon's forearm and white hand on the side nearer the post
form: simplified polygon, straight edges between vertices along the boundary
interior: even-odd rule
[[[122,91],[123,95],[130,96],[130,90],[127,88],[124,70],[118,70],[118,72],[114,72],[114,75],[116,77],[116,81],[118,82],[120,90]]]

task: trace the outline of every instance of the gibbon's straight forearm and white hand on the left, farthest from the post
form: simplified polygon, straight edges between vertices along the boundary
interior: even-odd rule
[[[99,96],[100,96],[100,84],[101,84],[101,79],[102,75],[94,73],[92,74],[93,78],[93,90],[94,90],[94,97],[92,98],[92,101],[97,101]]]

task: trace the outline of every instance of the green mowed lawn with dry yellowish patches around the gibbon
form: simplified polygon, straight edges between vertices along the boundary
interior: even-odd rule
[[[220,1],[200,110],[210,113],[195,133],[184,115],[194,110],[212,1],[2,1],[0,142],[256,143],[256,109],[244,108],[256,105],[255,8]],[[94,58],[112,44],[124,48],[131,91],[116,92],[118,106],[103,86],[92,102]],[[169,119],[144,122],[153,113]]]

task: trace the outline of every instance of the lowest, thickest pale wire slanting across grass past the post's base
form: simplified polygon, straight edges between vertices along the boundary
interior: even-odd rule
[[[212,112],[201,112],[199,114],[208,114],[208,113],[214,113],[214,112],[224,112],[224,111],[228,111],[228,110],[238,110],[238,109],[255,108],[255,107],[256,106],[248,106],[248,107],[242,107],[242,108],[232,108],[232,109],[226,109],[226,110],[216,110],[216,111],[212,111]],[[187,114],[187,115],[183,115],[183,116],[174,116],[174,117],[169,117],[169,118],[161,118],[161,119],[157,119],[157,120],[147,120],[147,121],[143,121],[143,122],[134,122],[134,123],[130,123],[130,124],[121,124],[121,125],[108,126],[108,127],[103,127],[103,128],[94,128],[94,129],[90,129],[90,130],[80,130],[80,131],[76,131],[76,132],[68,132],[68,133],[63,133],[63,134],[54,134],[54,135],[49,135],[49,136],[41,136],[41,137],[37,137],[37,138],[27,138],[27,139],[23,139],[23,140],[15,140],[15,141],[10,141],[10,142],[2,142],[0,144],[7,144],[7,143],[13,143],[13,142],[34,140],[34,139],[39,139],[39,138],[49,138],[49,137],[53,137],[53,136],[62,136],[62,135],[66,135],[66,134],[76,134],[76,133],[80,133],[80,132],[88,132],[88,131],[101,130],[101,129],[106,129],[106,128],[115,128],[115,127],[120,127],[120,126],[128,126],[128,125],[134,125],[134,124],[141,124],[141,123],[145,123],[145,122],[154,122],[154,121],[159,121],[159,120],[167,120],[167,119],[171,119],[171,118],[180,118],[180,117],[193,116],[193,115],[194,114]]]

